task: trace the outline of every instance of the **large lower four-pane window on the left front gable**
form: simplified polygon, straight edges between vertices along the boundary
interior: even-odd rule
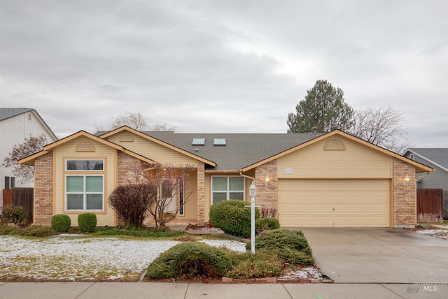
[[[67,211],[102,211],[103,175],[66,175]]]

